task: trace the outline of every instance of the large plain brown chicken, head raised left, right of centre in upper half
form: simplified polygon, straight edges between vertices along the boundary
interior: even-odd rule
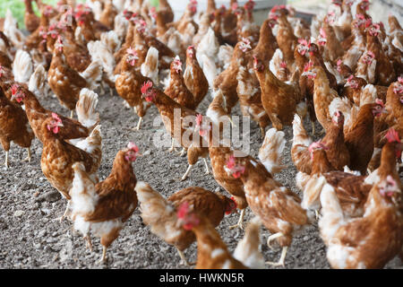
[[[262,105],[272,125],[278,130],[291,125],[294,114],[303,102],[299,87],[279,81],[271,73],[269,63],[264,64],[258,57],[254,57],[253,68],[261,84]]]

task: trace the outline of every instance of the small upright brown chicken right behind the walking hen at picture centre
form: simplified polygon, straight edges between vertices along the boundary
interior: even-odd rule
[[[171,63],[169,85],[164,92],[181,106],[187,109],[194,109],[193,94],[184,83],[184,74],[182,71],[182,61],[179,57],[176,57]]]

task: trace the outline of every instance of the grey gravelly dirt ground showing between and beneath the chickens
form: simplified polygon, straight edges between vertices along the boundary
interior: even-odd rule
[[[65,116],[69,112],[61,108],[54,98],[39,99],[51,110]],[[208,95],[199,111],[204,113],[210,102]],[[167,148],[157,148],[151,142],[158,128],[152,126],[154,117],[159,116],[154,106],[149,109],[144,118],[140,131],[131,128],[136,125],[138,117],[132,109],[124,108],[123,100],[116,94],[111,97],[99,96],[99,113],[101,115],[101,131],[103,135],[103,159],[99,169],[99,178],[104,179],[110,172],[116,152],[129,141],[137,143],[145,155],[133,163],[133,169],[138,180],[146,181],[163,196],[169,196],[184,187],[205,187],[212,191],[220,190],[227,194],[210,175],[204,174],[202,161],[194,167],[191,177],[185,181],[178,178],[187,168],[186,157],[168,153]],[[238,106],[235,114],[240,114]],[[305,126],[310,126],[305,122]],[[317,131],[320,126],[316,126]],[[163,128],[163,127],[161,127]],[[310,127],[307,128],[310,131]],[[287,146],[284,161],[288,168],[276,178],[286,187],[300,194],[296,189],[296,168],[290,158],[292,128],[285,129]],[[251,154],[257,156],[262,143],[259,127],[251,123]],[[99,239],[93,239],[93,252],[85,247],[81,235],[73,232],[72,222],[62,223],[56,218],[64,212],[65,200],[59,196],[54,187],[40,170],[40,155],[42,144],[35,140],[32,145],[32,161],[21,162],[26,157],[26,151],[12,145],[10,152],[11,167],[5,170],[0,167],[0,268],[189,268],[180,265],[180,257],[176,248],[168,245],[150,232],[149,227],[142,223],[140,211],[137,208],[132,217],[126,222],[120,236],[107,250],[107,264],[99,264],[102,247]],[[4,153],[0,157],[4,161]],[[243,238],[243,230],[229,230],[228,226],[236,224],[238,214],[231,214],[219,224],[221,238],[227,244],[228,250],[233,251],[237,242]],[[245,222],[253,218],[248,208]],[[271,250],[265,244],[268,230],[261,229],[262,254],[267,261],[277,261],[280,248]],[[196,243],[185,250],[190,261],[196,260]],[[394,258],[387,268],[402,268],[399,258]],[[267,266],[267,268],[271,268]],[[282,267],[277,267],[282,268]],[[296,235],[286,258],[286,268],[330,268],[326,259],[326,248],[319,237],[317,223],[308,227],[303,233]]]

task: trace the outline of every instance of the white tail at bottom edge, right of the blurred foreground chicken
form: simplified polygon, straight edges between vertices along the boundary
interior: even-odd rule
[[[246,227],[244,238],[236,245],[234,257],[245,266],[253,269],[263,269],[264,258],[260,250],[260,228],[262,221],[260,217],[254,217]]]

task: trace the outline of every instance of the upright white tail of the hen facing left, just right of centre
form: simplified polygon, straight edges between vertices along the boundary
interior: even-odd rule
[[[272,127],[266,132],[259,150],[259,160],[270,173],[277,173],[286,167],[281,163],[281,153],[286,146],[285,134]]]

